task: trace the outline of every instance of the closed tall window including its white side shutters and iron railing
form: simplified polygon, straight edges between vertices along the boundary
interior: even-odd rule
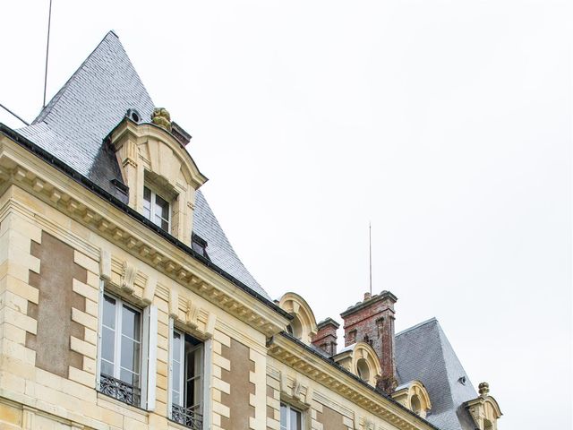
[[[98,391],[138,408],[155,408],[157,307],[142,311],[100,287]]]

